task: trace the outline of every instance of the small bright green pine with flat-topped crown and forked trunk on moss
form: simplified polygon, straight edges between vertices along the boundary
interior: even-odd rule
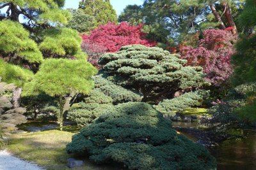
[[[63,127],[63,115],[74,103],[77,94],[88,94],[93,88],[92,76],[97,69],[85,60],[46,59],[39,71],[24,86],[24,96],[40,92],[58,97],[60,113],[58,120]]]

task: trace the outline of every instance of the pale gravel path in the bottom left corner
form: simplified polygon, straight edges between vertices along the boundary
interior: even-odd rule
[[[6,150],[0,150],[0,170],[44,170],[17,157]]]

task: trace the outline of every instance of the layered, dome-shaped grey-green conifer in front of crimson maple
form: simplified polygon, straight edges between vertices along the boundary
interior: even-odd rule
[[[143,45],[123,46],[99,60],[109,80],[143,94],[142,101],[156,104],[172,99],[175,92],[204,85],[202,67],[184,66],[186,62],[162,48]]]

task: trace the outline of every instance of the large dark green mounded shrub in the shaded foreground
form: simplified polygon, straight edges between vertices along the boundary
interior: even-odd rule
[[[216,169],[204,148],[172,129],[172,122],[146,103],[115,106],[83,127],[68,153],[90,155],[96,163],[120,162],[128,169]]]

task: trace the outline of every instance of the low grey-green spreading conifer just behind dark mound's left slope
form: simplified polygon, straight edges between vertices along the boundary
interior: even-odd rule
[[[105,110],[113,109],[113,104],[141,101],[139,94],[115,85],[102,75],[94,76],[93,80],[95,88],[92,92],[84,97],[83,102],[74,104],[68,111],[68,118],[79,126],[91,124]]]

